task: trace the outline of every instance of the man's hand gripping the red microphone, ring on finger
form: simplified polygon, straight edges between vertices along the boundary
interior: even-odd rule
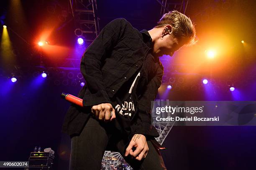
[[[110,117],[110,111],[112,111],[112,117]],[[109,122],[115,119],[115,109],[110,103],[92,106],[92,113],[100,121]]]

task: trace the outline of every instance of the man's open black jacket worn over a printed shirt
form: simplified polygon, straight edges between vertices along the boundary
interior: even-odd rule
[[[143,65],[145,57],[152,58],[152,70],[144,72],[144,89],[137,93],[138,107],[131,120],[131,135],[143,134],[158,137],[151,125],[151,101],[155,100],[164,68],[158,57],[151,55],[151,48],[143,42],[143,35],[125,19],[108,23],[84,52],[81,72],[86,85],[78,97],[83,99],[84,108],[72,105],[64,118],[62,131],[70,136],[79,134],[86,123],[91,107],[100,103],[111,103],[111,97]],[[152,41],[151,37],[149,39]],[[157,143],[157,142],[156,142]],[[157,144],[156,144],[157,145]],[[161,145],[157,146],[161,148]]]

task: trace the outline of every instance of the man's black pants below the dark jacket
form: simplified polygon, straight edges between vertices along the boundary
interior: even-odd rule
[[[104,123],[90,117],[82,133],[72,137],[69,170],[100,170],[102,157],[105,150],[119,152],[133,170],[166,170],[164,161],[159,150],[148,143],[148,155],[145,159],[138,161],[131,155],[124,156],[124,140],[111,122]]]

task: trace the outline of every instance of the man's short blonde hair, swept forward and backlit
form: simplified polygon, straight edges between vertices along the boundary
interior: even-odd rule
[[[173,35],[184,40],[185,44],[193,45],[197,42],[197,40],[195,40],[195,25],[189,17],[179,11],[173,10],[169,13],[165,13],[155,28],[164,27],[164,25],[172,25]]]

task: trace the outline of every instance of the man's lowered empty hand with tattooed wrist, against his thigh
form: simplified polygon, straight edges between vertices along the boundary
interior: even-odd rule
[[[135,147],[136,150],[133,151],[133,147]],[[128,156],[129,154],[136,158],[136,160],[142,160],[146,158],[148,154],[148,143],[144,135],[133,135],[131,142],[129,143],[128,147],[125,150],[125,156]]]

